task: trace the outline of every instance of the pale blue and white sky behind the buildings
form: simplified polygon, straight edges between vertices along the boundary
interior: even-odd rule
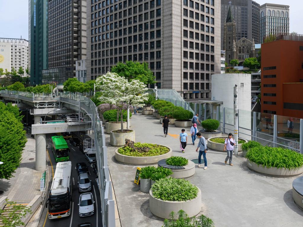
[[[260,5],[287,3],[290,6],[290,32],[303,34],[302,16],[300,16],[303,8],[302,0],[255,0],[255,2]],[[28,40],[28,0],[0,0],[0,17],[0,38],[20,38],[22,36]]]

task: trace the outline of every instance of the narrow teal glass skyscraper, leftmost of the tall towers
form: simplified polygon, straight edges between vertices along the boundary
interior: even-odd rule
[[[28,72],[31,85],[42,83],[42,69],[47,68],[47,0],[28,1]]]

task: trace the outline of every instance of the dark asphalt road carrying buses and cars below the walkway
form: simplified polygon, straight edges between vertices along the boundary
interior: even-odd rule
[[[48,153],[50,156],[50,159],[52,161],[52,166],[55,172],[56,168],[56,162],[54,159],[54,155],[51,150],[51,136],[54,136],[52,134],[47,135],[47,144],[48,144]],[[68,140],[67,140],[68,141]],[[61,218],[61,219],[48,219],[47,217],[47,211],[48,209],[44,207],[43,214],[41,217],[41,220],[39,222],[38,227],[77,227],[79,224],[84,223],[84,222],[90,222],[92,223],[92,227],[96,226],[102,226],[102,216],[101,216],[101,200],[100,200],[100,194],[98,192],[98,186],[96,183],[96,177],[95,173],[93,172],[93,168],[90,163],[85,159],[84,154],[79,151],[78,146],[72,146],[71,144],[68,143],[68,146],[70,148],[70,153],[69,153],[69,160],[72,162],[72,177],[73,177],[73,188],[72,188],[72,213],[68,217]],[[78,192],[78,173],[75,169],[75,165],[78,162],[85,162],[86,165],[88,166],[89,172],[90,172],[90,179],[92,180],[92,194],[94,197],[95,201],[95,213],[91,216],[87,217],[79,217],[79,197],[80,193]],[[50,162],[48,163],[49,165]],[[51,183],[49,184],[48,187],[48,195],[49,195],[49,189],[51,187]]]

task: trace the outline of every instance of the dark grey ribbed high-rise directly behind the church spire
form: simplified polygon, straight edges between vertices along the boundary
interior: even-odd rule
[[[233,13],[236,40],[246,38],[260,42],[260,5],[252,0],[221,0],[221,48],[224,48],[224,22],[227,18],[228,7]]]

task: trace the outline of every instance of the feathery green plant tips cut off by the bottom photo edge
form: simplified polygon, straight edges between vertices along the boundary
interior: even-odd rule
[[[170,219],[165,219],[162,227],[214,227],[214,222],[205,215],[190,219],[184,210],[178,211],[178,218],[175,219],[175,212],[169,214]]]

